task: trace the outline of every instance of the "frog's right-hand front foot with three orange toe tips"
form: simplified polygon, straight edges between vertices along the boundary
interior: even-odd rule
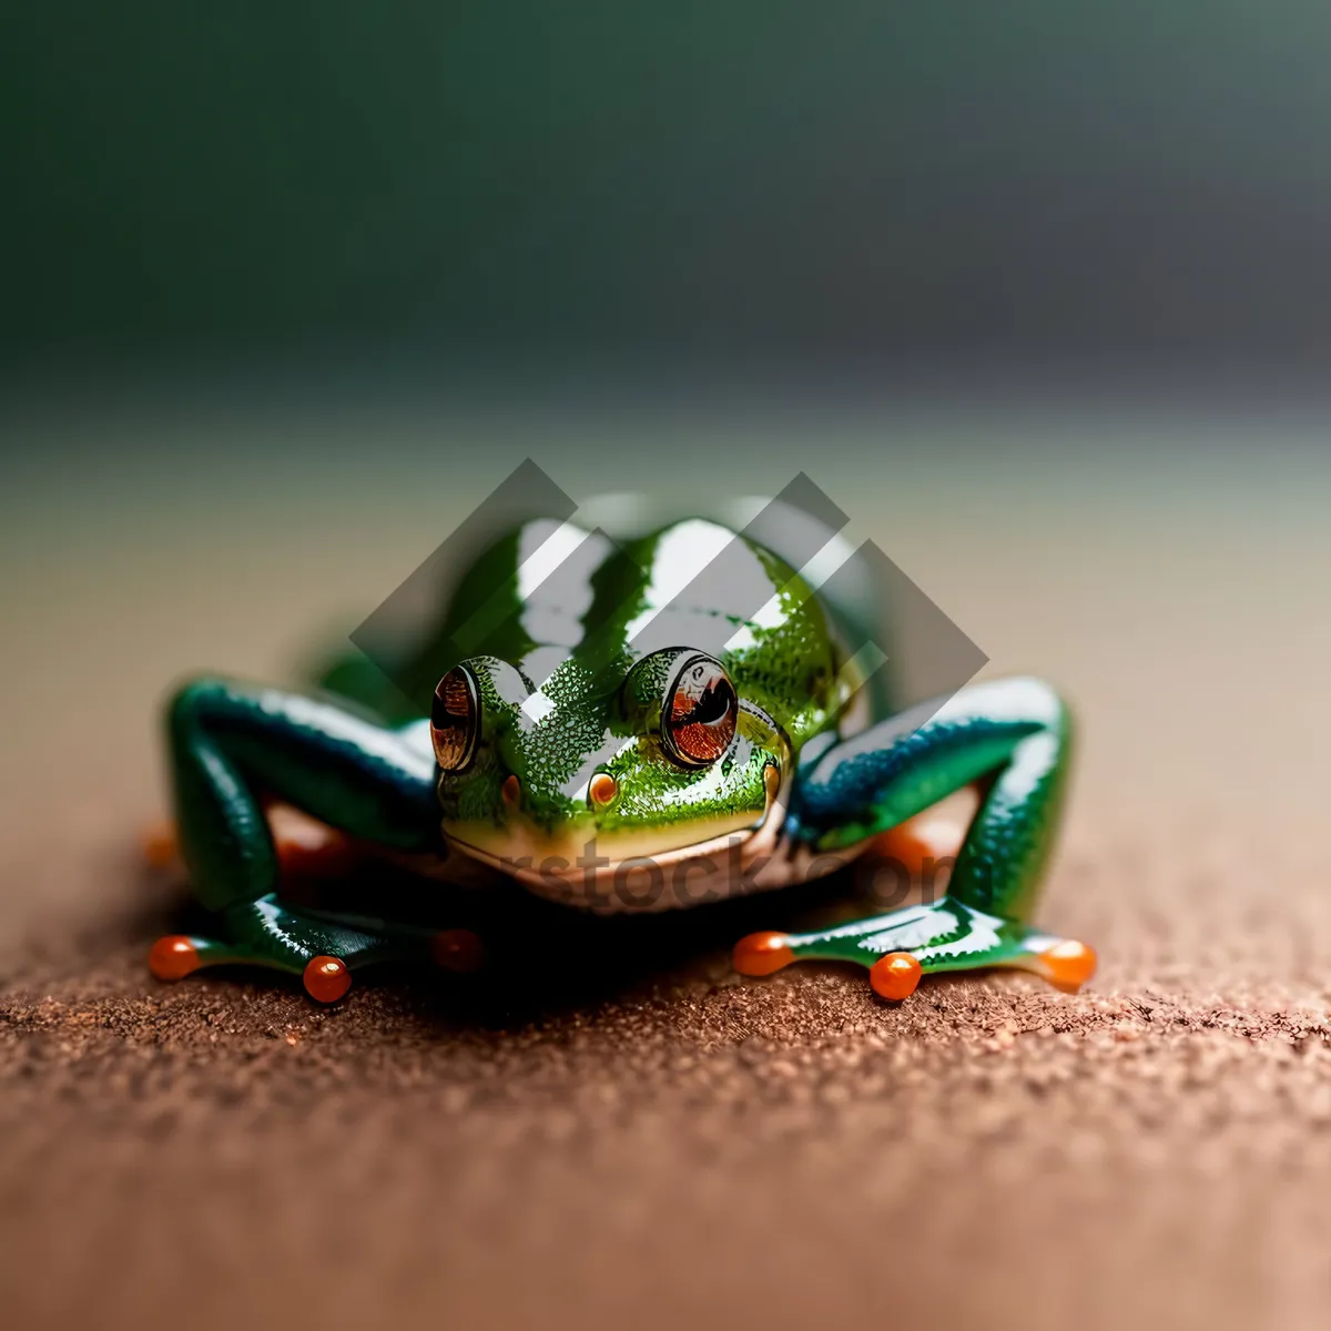
[[[1009,966],[1077,993],[1095,970],[1083,942],[1058,938],[944,897],[820,933],[752,933],[735,946],[741,976],[769,976],[792,961],[856,961],[882,998],[914,993],[922,976]]]

